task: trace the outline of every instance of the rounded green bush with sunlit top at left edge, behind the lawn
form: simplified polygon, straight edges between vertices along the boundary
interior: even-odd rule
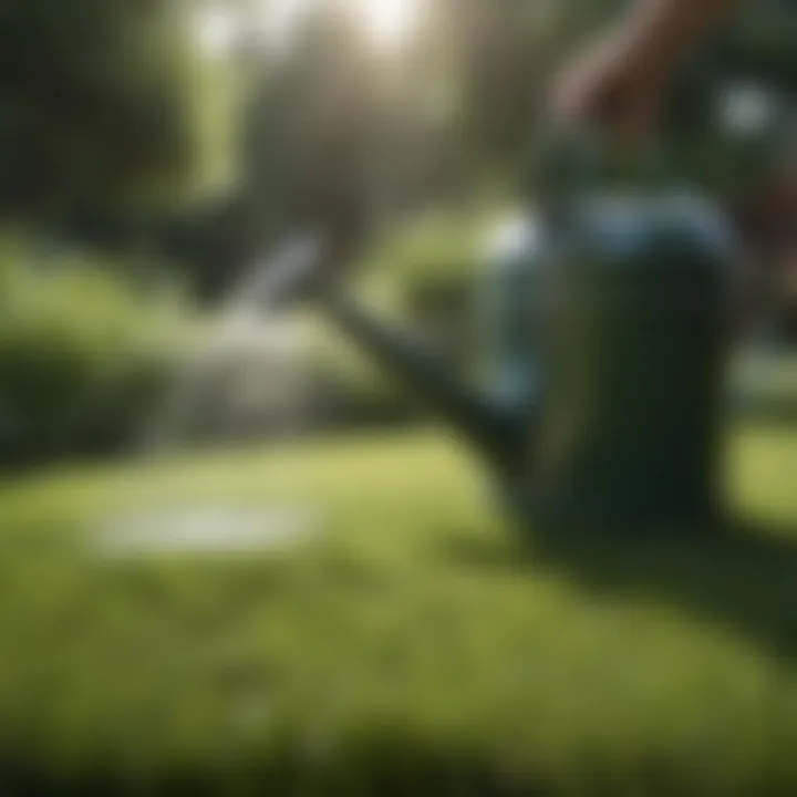
[[[107,453],[131,439],[170,372],[176,310],[116,265],[2,239],[0,464]]]

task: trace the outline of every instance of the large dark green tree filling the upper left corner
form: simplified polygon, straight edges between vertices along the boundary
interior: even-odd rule
[[[0,211],[174,200],[205,155],[206,76],[176,0],[3,3]]]

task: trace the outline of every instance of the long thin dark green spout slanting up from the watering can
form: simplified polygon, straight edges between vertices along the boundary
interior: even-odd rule
[[[519,413],[470,390],[423,343],[372,318],[349,298],[331,292],[322,303],[348,337],[412,387],[494,468],[508,472],[507,475],[521,469],[526,441]]]

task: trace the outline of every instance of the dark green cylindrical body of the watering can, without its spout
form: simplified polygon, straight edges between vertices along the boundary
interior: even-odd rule
[[[721,511],[736,250],[691,194],[583,197],[480,291],[484,391],[514,405],[526,456],[501,490],[572,522],[704,522]],[[522,421],[520,421],[522,418]]]

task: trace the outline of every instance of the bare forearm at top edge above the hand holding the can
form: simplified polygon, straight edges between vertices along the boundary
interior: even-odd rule
[[[671,64],[718,28],[738,0],[638,0],[621,35],[650,59]]]

